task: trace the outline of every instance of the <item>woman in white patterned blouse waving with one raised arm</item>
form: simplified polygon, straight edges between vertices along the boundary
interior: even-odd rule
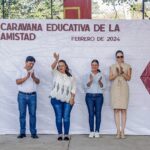
[[[75,79],[69,72],[65,60],[59,60],[59,54],[54,53],[54,62],[51,65],[53,73],[53,88],[51,91],[51,104],[56,117],[58,140],[69,140],[70,113],[74,105]],[[64,125],[64,133],[63,127]]]

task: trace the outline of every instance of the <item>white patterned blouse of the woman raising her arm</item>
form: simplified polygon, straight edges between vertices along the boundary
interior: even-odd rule
[[[69,102],[71,93],[76,92],[75,78],[62,74],[57,69],[53,69],[52,73],[54,78],[50,96],[62,102]]]

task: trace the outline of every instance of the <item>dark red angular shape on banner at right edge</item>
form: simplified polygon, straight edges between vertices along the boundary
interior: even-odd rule
[[[147,91],[150,94],[150,62],[148,63],[144,72],[142,73],[141,80],[143,81]]]

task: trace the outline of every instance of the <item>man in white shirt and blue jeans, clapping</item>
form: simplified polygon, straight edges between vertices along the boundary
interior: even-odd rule
[[[22,68],[16,79],[18,85],[18,107],[20,114],[20,134],[18,138],[26,137],[26,109],[29,110],[30,132],[32,138],[38,138],[36,131],[36,106],[37,95],[36,86],[40,83],[36,72],[33,70],[35,58],[28,56],[26,58],[25,66]]]

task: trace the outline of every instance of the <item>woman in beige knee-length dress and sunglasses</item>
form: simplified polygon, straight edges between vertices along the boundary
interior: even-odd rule
[[[116,63],[110,67],[109,79],[111,86],[111,104],[114,110],[117,128],[116,138],[125,138],[125,126],[129,101],[128,81],[131,79],[131,66],[124,62],[124,53],[118,50],[115,54]]]

